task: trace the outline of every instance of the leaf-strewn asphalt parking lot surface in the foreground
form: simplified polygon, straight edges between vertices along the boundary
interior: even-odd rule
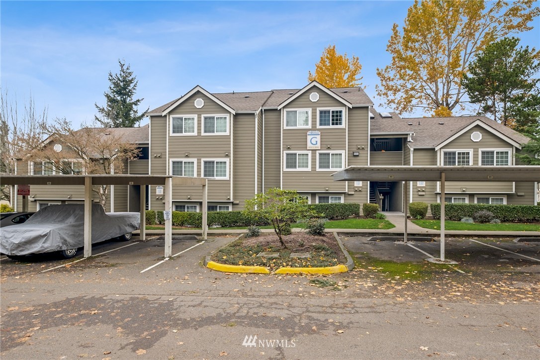
[[[107,253],[78,262],[80,255],[2,259],[0,356],[540,356],[540,263],[516,255],[540,259],[539,243],[447,239],[447,257],[459,264],[446,266],[402,243],[343,236],[356,261],[346,274],[227,274],[203,267],[204,256],[232,240],[173,240],[179,255],[164,262],[163,241],[136,237],[95,245],[93,254]],[[438,256],[438,242],[411,244]]]

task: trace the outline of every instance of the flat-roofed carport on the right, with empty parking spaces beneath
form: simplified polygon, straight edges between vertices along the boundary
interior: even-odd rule
[[[446,181],[540,181],[540,166],[349,166],[334,181],[404,181],[404,241],[407,242],[408,181],[441,182],[441,257],[444,262],[444,185]],[[535,186],[536,188],[536,186]],[[535,205],[536,194],[535,194]]]

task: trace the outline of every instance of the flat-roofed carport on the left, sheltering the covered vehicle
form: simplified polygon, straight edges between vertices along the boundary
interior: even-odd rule
[[[199,185],[203,187],[203,240],[207,236],[207,180],[171,175],[2,175],[0,185],[50,185],[84,186],[84,257],[92,255],[92,186],[94,185],[138,185],[140,186],[140,239],[145,240],[145,191],[147,185],[164,186],[165,212],[165,257],[172,255],[172,187]],[[15,193],[15,192],[14,192]],[[23,201],[28,201],[24,199]]]

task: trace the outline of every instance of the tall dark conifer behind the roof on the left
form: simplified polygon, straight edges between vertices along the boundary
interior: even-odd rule
[[[98,115],[96,121],[104,127],[134,127],[146,116],[149,109],[138,114],[137,106],[144,99],[133,99],[137,90],[136,77],[130,71],[130,65],[118,59],[120,72],[109,72],[109,91],[105,92],[105,106],[95,104]]]

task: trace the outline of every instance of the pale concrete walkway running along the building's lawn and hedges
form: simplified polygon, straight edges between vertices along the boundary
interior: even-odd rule
[[[392,229],[326,229],[329,233],[357,233],[357,234],[377,234],[377,235],[403,235],[405,232],[405,216],[401,212],[384,212],[386,219],[392,222],[395,227]],[[292,229],[293,232],[301,232],[303,229]],[[208,234],[212,236],[220,234],[242,234],[245,233],[245,229],[221,229],[221,228],[209,228]],[[263,233],[272,233],[273,229],[261,229]],[[164,234],[165,230],[146,230],[147,236],[160,235]],[[195,234],[200,235],[200,229],[173,229],[173,235],[187,235]],[[133,234],[138,234],[138,232],[133,232]],[[432,235],[434,237],[440,236],[440,229],[426,229],[422,228],[410,220],[407,220],[407,234],[409,235]],[[538,231],[472,231],[472,230],[446,230],[444,232],[446,235],[453,236],[494,236],[494,237],[540,237],[540,228]]]

